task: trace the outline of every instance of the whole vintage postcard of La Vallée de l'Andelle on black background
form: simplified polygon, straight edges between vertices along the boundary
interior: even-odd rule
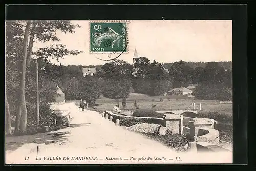
[[[232,163],[232,20],[6,21],[6,164]]]

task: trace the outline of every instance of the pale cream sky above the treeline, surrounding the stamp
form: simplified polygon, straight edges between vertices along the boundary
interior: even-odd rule
[[[106,54],[89,53],[89,21],[72,21],[79,24],[75,33],[57,32],[60,43],[79,55],[65,56],[55,64],[100,65],[106,63]],[[128,52],[118,59],[133,62],[135,48],[138,56],[151,61],[210,62],[232,61],[232,20],[132,20],[127,24]],[[36,50],[53,42],[35,42]]]

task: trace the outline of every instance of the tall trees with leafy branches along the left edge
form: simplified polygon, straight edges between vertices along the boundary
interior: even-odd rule
[[[28,23],[31,24],[31,26],[28,26]],[[62,44],[53,44],[49,47],[39,48],[38,51],[32,52],[34,42],[59,41],[56,34],[58,30],[64,33],[73,33],[76,27],[79,26],[73,25],[69,21],[6,22],[6,94],[9,100],[10,115],[16,116],[17,126],[15,132],[17,134],[26,133],[27,123],[30,124],[36,113],[34,108],[36,79],[35,70],[33,67],[31,68],[32,57],[36,56],[41,63],[40,67],[44,68],[44,65],[49,63],[49,57],[58,59],[66,55],[81,53],[76,50],[68,50],[65,45]],[[25,44],[26,46],[24,46]],[[41,69],[40,67],[39,69]],[[45,75],[40,76],[43,77]],[[40,80],[40,76],[39,81],[42,81]],[[46,79],[44,81],[49,83],[47,77],[44,78]],[[39,84],[41,85],[42,82]],[[17,92],[20,92],[20,94]],[[51,92],[46,85],[39,88],[40,105],[41,107],[46,106],[46,108],[42,107],[43,110],[40,110],[40,114],[43,115],[47,113],[47,111],[50,111],[49,106],[47,107],[47,103],[51,100],[49,96],[53,97],[54,95],[53,93],[48,94],[49,96],[45,96],[47,94],[46,92]],[[20,129],[19,115],[17,115],[19,113],[21,113],[20,120],[22,121]],[[42,122],[42,124],[44,124],[44,122]]]

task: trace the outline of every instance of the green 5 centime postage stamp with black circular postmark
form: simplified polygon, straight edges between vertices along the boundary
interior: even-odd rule
[[[90,22],[90,52],[127,52],[127,23]]]

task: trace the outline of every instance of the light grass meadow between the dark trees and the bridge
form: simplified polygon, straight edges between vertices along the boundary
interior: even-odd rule
[[[160,101],[160,98],[163,101]],[[170,100],[168,100],[170,98]],[[154,99],[154,101],[152,101]],[[226,115],[232,115],[232,104],[220,104],[219,101],[216,100],[193,100],[188,99],[185,96],[158,96],[158,97],[150,97],[144,94],[131,93],[127,98],[127,108],[122,108],[122,99],[119,99],[119,105],[121,110],[135,110],[134,101],[137,101],[140,109],[153,109],[152,104],[155,104],[155,110],[177,110],[183,109],[186,110],[192,103],[201,103],[202,111],[216,111],[219,113],[226,113]],[[96,100],[97,109],[98,110],[111,110],[115,104],[114,99],[108,99],[105,97],[101,97]]]

